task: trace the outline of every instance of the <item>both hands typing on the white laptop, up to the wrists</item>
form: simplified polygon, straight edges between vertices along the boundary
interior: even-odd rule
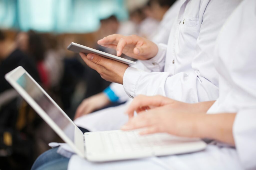
[[[199,137],[195,122],[198,117],[205,114],[196,106],[163,96],[140,95],[128,108],[127,114],[130,119],[121,129],[145,128],[140,132],[142,135],[167,132],[176,136]],[[134,111],[138,114],[136,117],[133,117]]]

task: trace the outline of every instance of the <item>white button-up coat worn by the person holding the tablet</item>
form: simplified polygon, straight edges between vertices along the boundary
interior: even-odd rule
[[[239,2],[181,0],[168,45],[159,44],[158,54],[143,61],[152,72],[126,69],[123,85],[128,96],[160,94],[189,103],[216,100],[214,45],[220,28]]]

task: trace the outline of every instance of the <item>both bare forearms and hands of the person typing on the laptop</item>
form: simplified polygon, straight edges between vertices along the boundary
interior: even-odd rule
[[[206,114],[214,101],[189,104],[163,96],[136,97],[127,110],[131,118],[122,130],[145,128],[141,134],[167,132],[183,137],[211,138],[234,145],[232,126],[236,114]]]

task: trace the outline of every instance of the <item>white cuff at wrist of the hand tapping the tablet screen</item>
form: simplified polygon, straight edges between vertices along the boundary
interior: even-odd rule
[[[157,46],[158,52],[156,56],[149,60],[141,60],[141,62],[153,72],[163,72],[167,45],[160,43]]]

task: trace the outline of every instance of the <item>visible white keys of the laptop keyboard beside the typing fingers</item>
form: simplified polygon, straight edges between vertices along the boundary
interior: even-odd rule
[[[139,135],[138,131],[118,131],[101,133],[102,143],[107,152],[130,152],[151,150],[153,147],[168,145],[160,141],[157,134]]]

